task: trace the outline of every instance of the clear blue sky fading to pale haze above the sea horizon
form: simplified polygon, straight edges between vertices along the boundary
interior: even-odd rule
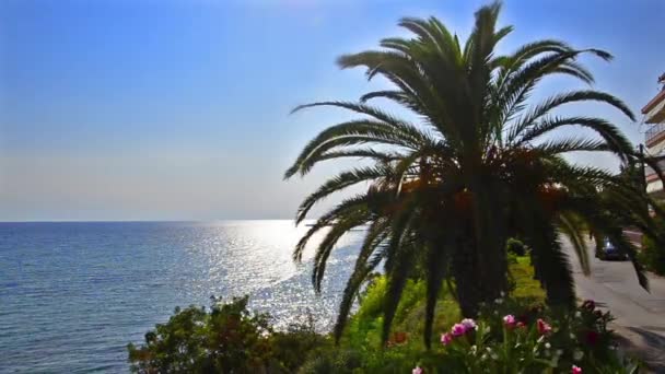
[[[405,36],[401,16],[435,15],[465,37],[483,3],[0,1],[0,221],[293,218],[343,165],[288,182],[283,172],[307,140],[349,115],[290,110],[386,84],[335,59]],[[665,71],[663,15],[662,0],[508,0],[500,24],[515,31],[499,50],[539,38],[606,49],[610,63],[583,60],[594,86],[641,119]],[[534,98],[583,87],[553,79]],[[565,110],[612,120],[642,142],[644,126],[612,108]]]

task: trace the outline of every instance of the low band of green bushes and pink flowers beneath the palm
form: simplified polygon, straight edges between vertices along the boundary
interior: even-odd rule
[[[409,280],[395,317],[395,332],[382,344],[382,308],[388,280],[374,277],[363,302],[349,322],[339,346],[314,331],[313,322],[275,331],[265,314],[247,311],[247,299],[214,303],[210,309],[176,309],[168,323],[147,334],[144,346],[129,344],[132,371],[139,373],[408,373],[420,365],[425,373],[570,372],[625,373],[627,366],[607,329],[611,320],[592,302],[575,313],[545,306],[544,291],[533,279],[527,257],[511,265],[515,290],[482,306],[478,330],[466,330],[444,346],[440,337],[428,350],[420,339],[427,305],[424,280]],[[439,294],[435,331],[459,329],[453,292]],[[513,325],[503,316],[512,314]],[[551,325],[540,338],[538,319]],[[468,323],[468,322],[466,322]],[[524,324],[521,327],[517,324]],[[510,328],[509,328],[510,327]],[[542,328],[542,326],[541,326]],[[451,336],[452,337],[452,336]],[[475,347],[475,348],[474,348]],[[552,367],[552,365],[555,367]]]

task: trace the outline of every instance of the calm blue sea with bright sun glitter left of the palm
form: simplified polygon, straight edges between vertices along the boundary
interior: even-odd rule
[[[362,233],[338,245],[316,296],[312,252],[302,265],[291,260],[306,229],[292,221],[0,223],[0,373],[128,372],[128,342],[141,342],[176,305],[208,305],[212,294],[249,294],[278,326],[310,309],[327,329]]]

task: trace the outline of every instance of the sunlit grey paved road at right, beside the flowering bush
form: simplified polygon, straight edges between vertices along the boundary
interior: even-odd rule
[[[657,373],[665,373],[665,278],[650,274],[651,292],[638,283],[630,261],[600,261],[592,258],[592,273],[585,277],[564,242],[573,265],[578,296],[605,305],[617,318],[612,328],[639,351]],[[590,245],[593,248],[593,245]]]

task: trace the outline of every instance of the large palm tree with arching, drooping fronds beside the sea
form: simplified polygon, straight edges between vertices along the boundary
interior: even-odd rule
[[[445,279],[454,279],[465,316],[475,316],[480,303],[506,291],[505,242],[511,236],[524,237],[533,248],[535,271],[548,302],[570,306],[574,303],[573,279],[560,234],[568,236],[588,272],[586,245],[575,222],[610,237],[633,260],[640,282],[646,287],[634,247],[623,236],[617,217],[648,234],[655,233],[649,213],[635,209],[644,207],[649,197],[608,172],[573,165],[563,157],[578,151],[610,152],[626,162],[639,155],[607,120],[556,116],[553,110],[599,102],[630,119],[632,113],[618,98],[590,89],[539,103],[528,100],[549,75],[593,83],[579,57],[610,60],[611,56],[553,39],[499,55],[495,46],[512,31],[511,26],[497,28],[500,8],[493,3],[476,12],[475,27],[464,45],[435,17],[402,19],[399,25],[413,37],[386,38],[380,50],[338,60],[343,69],[365,68],[369,80],[387,79],[392,90],[370,92],[358,103],[319,102],[294,109],[332,106],[361,115],[328,127],[310,141],[284,176],[304,176],[326,160],[369,161],[366,166],[324,183],[302,202],[296,217],[300,223],[329,195],[352,185],[370,185],[364,194],[320,217],[294,250],[294,259],[300,260],[312,235],[329,227],[314,258],[313,283],[319,291],[337,241],[355,226],[369,225],[340,305],[338,338],[363,280],[385,262],[384,340],[406,280],[418,267],[424,269],[428,282],[424,339],[429,346],[436,296]],[[376,98],[415,113],[419,124],[369,104]],[[591,129],[596,136],[571,136],[574,127]],[[569,129],[564,137],[561,129]],[[599,190],[615,198],[600,198]]]

